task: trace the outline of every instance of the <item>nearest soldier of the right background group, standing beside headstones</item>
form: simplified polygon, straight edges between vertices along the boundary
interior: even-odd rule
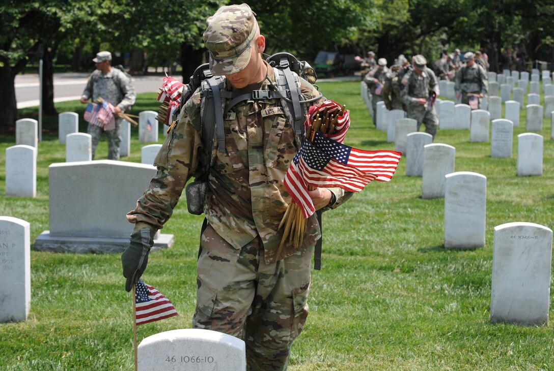
[[[402,78],[404,88],[401,91],[402,100],[408,106],[408,118],[417,121],[417,129],[423,123],[425,133],[437,133],[439,118],[434,104],[428,104],[430,94],[439,95],[439,86],[434,72],[426,66],[427,60],[423,55],[415,55],[412,59],[413,70],[408,71]]]

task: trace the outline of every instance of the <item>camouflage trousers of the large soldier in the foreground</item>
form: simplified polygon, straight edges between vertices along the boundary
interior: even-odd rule
[[[248,370],[286,370],[308,315],[313,247],[266,264],[259,237],[235,249],[210,226],[201,245],[193,327],[243,339]]]

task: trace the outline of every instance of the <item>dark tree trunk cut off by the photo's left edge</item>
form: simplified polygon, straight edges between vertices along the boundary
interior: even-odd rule
[[[8,62],[0,67],[0,133],[15,135],[17,120],[16,74]]]

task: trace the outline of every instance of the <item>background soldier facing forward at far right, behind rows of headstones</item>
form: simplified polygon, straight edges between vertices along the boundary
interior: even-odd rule
[[[456,98],[460,98],[461,95],[461,103],[469,104],[470,99],[477,99],[480,107],[481,98],[488,90],[488,77],[483,67],[478,65],[474,58],[475,55],[471,51],[464,54],[465,66],[462,66],[456,74],[454,91]]]

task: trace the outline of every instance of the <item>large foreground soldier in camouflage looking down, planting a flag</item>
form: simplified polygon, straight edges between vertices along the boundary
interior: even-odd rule
[[[226,77],[225,90],[271,90],[275,83],[274,69],[261,58],[265,38],[254,15],[242,4],[221,7],[207,19],[210,69]],[[304,79],[300,89],[304,100],[320,96]],[[154,234],[202,168],[204,101],[199,88],[186,102],[156,157],[157,175],[127,214],[136,224],[121,257],[127,291],[146,268]],[[224,118],[225,151],[214,146],[215,163],[207,175],[209,225],[201,237],[193,326],[243,339],[249,370],[284,370],[306,321],[311,255],[321,232],[313,215],[300,248],[288,242],[279,248],[278,225],[291,202],[283,180],[299,149],[280,100],[242,101]],[[351,193],[321,188],[310,196],[325,210]]]

